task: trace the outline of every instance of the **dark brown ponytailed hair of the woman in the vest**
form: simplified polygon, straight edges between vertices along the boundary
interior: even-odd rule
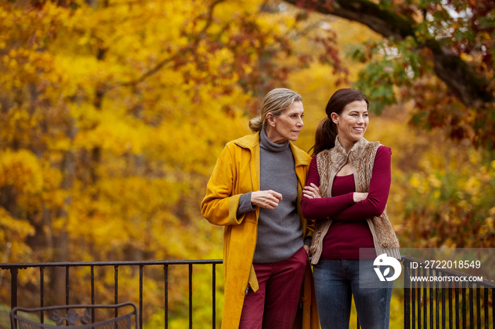
[[[344,88],[334,92],[327,103],[325,112],[327,117],[320,121],[315,133],[315,145],[310,150],[313,150],[313,155],[317,155],[322,150],[330,150],[335,146],[335,138],[337,137],[337,125],[332,121],[332,113],[342,114],[344,107],[356,100],[363,100],[369,106],[368,98],[363,92],[357,89]]]

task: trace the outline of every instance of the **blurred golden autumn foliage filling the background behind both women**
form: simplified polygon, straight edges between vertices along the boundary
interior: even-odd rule
[[[354,81],[390,115],[374,136],[394,150],[401,242],[494,246],[495,162],[470,146],[493,148],[493,18],[489,1],[0,0],[0,253],[10,242],[15,262],[220,258],[221,228],[199,203],[223,145],[249,133],[267,90],[288,86],[305,97],[308,150],[309,114]],[[157,327],[162,276],[144,287]],[[110,301],[108,275],[96,280]],[[182,328],[187,301],[170,299]]]

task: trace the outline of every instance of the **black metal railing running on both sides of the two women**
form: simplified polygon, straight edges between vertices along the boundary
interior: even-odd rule
[[[412,274],[416,276],[428,275],[433,277],[458,276],[465,277],[465,273],[444,269],[412,268],[412,263],[422,264],[419,258],[402,256],[404,264],[404,328],[494,328],[494,282],[411,282],[407,280]],[[95,268],[114,268],[114,302],[119,301],[119,268],[124,266],[139,267],[139,327],[143,328],[143,281],[144,267],[163,266],[163,283],[165,310],[165,328],[168,328],[168,285],[169,267],[171,265],[186,266],[188,268],[189,287],[189,328],[192,328],[192,273],[194,265],[211,265],[211,328],[216,328],[216,265],[222,264],[221,259],[194,260],[194,261],[114,261],[114,262],[66,262],[66,263],[0,263],[1,270],[11,273],[11,308],[18,306],[18,273],[19,270],[37,268],[40,272],[40,307],[45,306],[45,269],[65,269],[65,303],[70,304],[70,270],[71,268],[90,268],[91,270],[91,304],[95,304]],[[448,308],[448,310],[447,310]],[[474,311],[476,310],[476,311]],[[491,316],[490,316],[491,312]],[[469,327],[467,323],[469,321]],[[448,323],[448,326],[447,326]],[[476,323],[476,327],[474,324]],[[484,326],[482,326],[482,324]],[[359,327],[359,322],[357,325]]]

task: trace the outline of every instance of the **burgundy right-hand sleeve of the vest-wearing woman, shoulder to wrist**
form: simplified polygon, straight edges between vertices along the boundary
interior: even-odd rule
[[[334,220],[363,220],[380,216],[387,205],[390,192],[390,157],[392,150],[380,146],[375,155],[368,197],[333,215]]]

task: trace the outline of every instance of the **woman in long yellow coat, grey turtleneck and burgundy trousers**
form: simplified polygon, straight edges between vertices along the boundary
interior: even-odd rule
[[[309,270],[300,201],[310,157],[292,143],[303,114],[301,95],[270,91],[253,134],[226,144],[206,186],[202,214],[225,227],[222,328],[293,328]]]

